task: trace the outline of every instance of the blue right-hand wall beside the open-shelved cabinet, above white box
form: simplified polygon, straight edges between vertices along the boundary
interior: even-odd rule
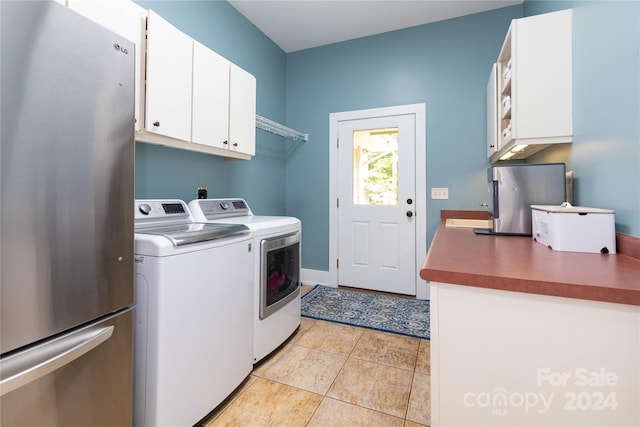
[[[640,2],[528,1],[535,15],[573,7],[571,145],[531,161],[574,171],[575,204],[616,211],[616,231],[640,236]]]

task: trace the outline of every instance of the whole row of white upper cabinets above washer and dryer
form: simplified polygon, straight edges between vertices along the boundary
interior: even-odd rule
[[[66,3],[136,44],[136,140],[237,159],[255,155],[253,75],[131,0]]]

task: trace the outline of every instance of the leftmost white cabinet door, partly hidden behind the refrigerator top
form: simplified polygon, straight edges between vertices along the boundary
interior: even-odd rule
[[[112,0],[109,2],[67,0],[67,6],[136,44],[135,53],[131,52],[136,56],[134,114],[135,130],[141,130],[144,116],[144,106],[141,104],[141,99],[144,99],[142,95],[142,90],[144,89],[142,80],[144,74],[142,70],[144,70],[145,61],[144,28],[147,11],[130,0]]]

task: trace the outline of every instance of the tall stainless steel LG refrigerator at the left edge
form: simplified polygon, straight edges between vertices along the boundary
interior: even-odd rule
[[[134,44],[0,1],[0,424],[132,423]]]

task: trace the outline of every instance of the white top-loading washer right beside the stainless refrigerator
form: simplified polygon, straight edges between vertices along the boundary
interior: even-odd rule
[[[253,369],[253,234],[136,200],[134,425],[194,425]]]

